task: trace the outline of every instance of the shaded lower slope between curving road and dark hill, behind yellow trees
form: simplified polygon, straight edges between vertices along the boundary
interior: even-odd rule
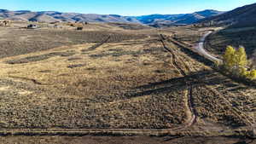
[[[243,46],[247,56],[256,67],[256,27],[229,27],[207,37],[206,48],[212,54],[223,55],[227,45]]]

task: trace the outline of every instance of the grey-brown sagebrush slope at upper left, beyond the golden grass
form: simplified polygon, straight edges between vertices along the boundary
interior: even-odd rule
[[[0,58],[25,55],[42,50],[54,49],[81,43],[99,43],[111,35],[108,42],[121,42],[123,40],[136,40],[146,37],[143,34],[89,31],[78,32],[74,30],[26,30],[18,28],[0,28]]]

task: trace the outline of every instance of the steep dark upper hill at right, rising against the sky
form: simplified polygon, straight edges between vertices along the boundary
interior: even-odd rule
[[[230,12],[219,14],[206,20],[201,21],[207,23],[212,21],[214,25],[224,25],[232,27],[244,27],[244,26],[255,26],[256,25],[256,3],[246,5]]]

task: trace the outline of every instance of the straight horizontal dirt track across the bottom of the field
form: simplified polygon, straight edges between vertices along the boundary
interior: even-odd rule
[[[0,135],[66,135],[66,136],[80,136],[80,135],[150,135],[150,136],[238,136],[247,135],[253,137],[252,134],[247,133],[250,128],[244,127],[235,130],[216,130],[214,128],[207,131],[201,129],[193,129],[190,133],[188,130],[131,130],[131,129],[0,129]],[[209,133],[209,131],[212,132]]]

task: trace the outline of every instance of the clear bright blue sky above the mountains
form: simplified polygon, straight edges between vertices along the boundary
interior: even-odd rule
[[[84,14],[185,14],[204,9],[227,11],[256,0],[1,0],[0,9]]]

